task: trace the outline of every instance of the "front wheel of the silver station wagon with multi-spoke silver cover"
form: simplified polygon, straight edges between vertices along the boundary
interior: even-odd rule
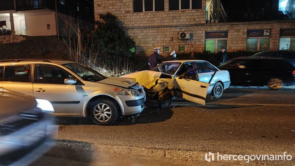
[[[97,99],[91,104],[90,116],[98,125],[111,125],[118,118],[117,103],[109,100]]]

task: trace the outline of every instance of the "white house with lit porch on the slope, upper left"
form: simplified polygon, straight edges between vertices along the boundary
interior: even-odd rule
[[[71,26],[94,29],[93,0],[5,0],[0,35],[68,36]]]

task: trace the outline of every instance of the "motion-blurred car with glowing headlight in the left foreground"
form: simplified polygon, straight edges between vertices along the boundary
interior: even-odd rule
[[[0,88],[0,105],[0,165],[28,165],[50,149],[55,127],[40,109],[53,113],[48,101]]]

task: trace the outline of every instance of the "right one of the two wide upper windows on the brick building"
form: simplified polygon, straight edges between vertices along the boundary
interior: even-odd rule
[[[169,11],[184,9],[202,9],[202,0],[169,0]]]

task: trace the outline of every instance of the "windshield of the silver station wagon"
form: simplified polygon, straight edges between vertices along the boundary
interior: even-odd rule
[[[64,66],[78,74],[84,81],[100,81],[106,78],[99,72],[81,64],[71,63],[65,64]]]

